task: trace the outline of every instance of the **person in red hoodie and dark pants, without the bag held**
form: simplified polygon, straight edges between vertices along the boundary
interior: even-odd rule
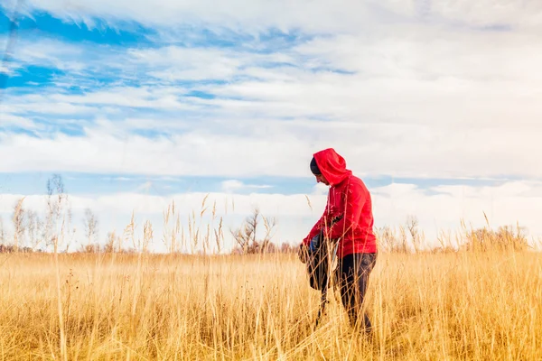
[[[311,240],[318,234],[325,240],[338,242],[336,272],[341,301],[350,325],[357,328],[369,274],[378,254],[370,193],[363,181],[346,168],[344,158],[332,148],[314,153],[310,168],[316,181],[330,186],[330,190],[322,217],[300,245],[300,257],[303,261]],[[364,329],[370,332],[372,325],[367,312],[361,321]]]

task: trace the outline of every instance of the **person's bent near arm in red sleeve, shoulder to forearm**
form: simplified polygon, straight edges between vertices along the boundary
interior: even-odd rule
[[[329,239],[337,239],[356,227],[361,216],[361,210],[366,201],[365,194],[360,184],[350,183],[346,192],[345,207],[342,218],[336,223],[323,229],[323,233]]]

